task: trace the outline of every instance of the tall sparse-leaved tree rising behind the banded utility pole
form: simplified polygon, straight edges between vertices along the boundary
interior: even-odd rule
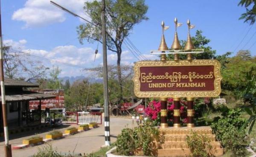
[[[106,0],[106,29],[107,48],[117,54],[117,72],[119,82],[119,99],[122,99],[122,74],[121,74],[121,54],[122,43],[125,37],[130,35],[134,25],[143,20],[148,20],[145,16],[148,6],[145,0]],[[84,12],[92,19],[91,22],[97,26],[102,25],[101,12],[102,5],[99,1],[85,2]],[[77,28],[79,41],[84,40],[90,43],[99,41],[102,43],[101,29],[90,23],[82,24]]]

